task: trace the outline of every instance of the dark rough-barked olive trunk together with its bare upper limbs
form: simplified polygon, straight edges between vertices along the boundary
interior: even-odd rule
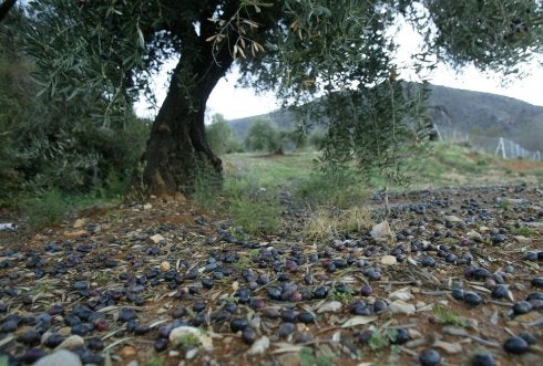
[[[223,2],[223,18],[232,19],[239,3],[238,0]],[[217,11],[216,1],[195,1],[192,6],[197,9],[198,29],[189,17],[170,28],[182,40],[181,61],[174,70],[166,100],[153,123],[142,157],[144,169],[141,178],[146,196],[191,194],[199,167],[207,164],[217,174],[223,169],[221,159],[207,144],[204,114],[209,94],[234,62],[232,44],[225,41],[214,48],[213,42],[206,41],[217,32],[215,22],[209,21]],[[276,12],[281,11],[280,7],[276,8]],[[260,12],[259,18],[255,17],[254,20],[263,25],[258,31],[264,34],[276,22],[276,15]],[[227,34],[229,36],[235,39],[238,35]]]

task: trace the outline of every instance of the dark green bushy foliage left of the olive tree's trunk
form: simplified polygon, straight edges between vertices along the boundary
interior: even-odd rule
[[[89,115],[105,103],[88,96],[51,103],[32,79],[35,60],[23,52],[22,14],[0,24],[0,202],[51,190],[122,195],[143,153],[148,126],[131,112],[120,123]]]

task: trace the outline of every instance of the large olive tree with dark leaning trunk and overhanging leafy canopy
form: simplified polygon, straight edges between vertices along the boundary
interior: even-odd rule
[[[421,59],[459,66],[474,62],[480,69],[512,71],[542,51],[543,39],[542,3],[535,0],[34,0],[30,4],[28,51],[35,57],[43,93],[52,104],[84,95],[93,115],[94,106],[102,106],[105,125],[125,117],[126,105],[148,85],[153,70],[167,57],[180,56],[142,158],[144,189],[155,195],[191,191],[198,161],[221,171],[221,160],[205,138],[204,111],[209,93],[235,61],[244,82],[276,90],[287,104],[303,103],[316,93],[338,95],[325,98],[322,112],[360,98],[346,91],[361,95],[387,83],[396,69],[389,29],[399,19],[426,34]],[[406,98],[396,86],[386,91],[379,95],[388,98],[388,107],[413,105],[420,98]],[[383,107],[355,103],[361,116],[355,119],[377,122],[362,118],[363,111],[373,106]],[[406,111],[395,107],[393,119],[412,126],[419,117]],[[332,121],[320,112],[328,123],[345,122],[344,114]],[[352,132],[366,129],[338,128],[328,137]],[[397,135],[378,132],[379,149],[399,143],[390,142],[390,136]],[[344,157],[360,159],[360,154],[372,151],[357,149]],[[326,156],[338,157],[334,149]],[[389,155],[365,156],[360,161],[373,164],[380,156]]]

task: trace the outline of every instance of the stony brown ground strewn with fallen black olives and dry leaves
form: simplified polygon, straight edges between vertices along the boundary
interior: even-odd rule
[[[1,231],[0,365],[543,364],[542,189],[390,207],[388,243],[242,239],[174,199]]]

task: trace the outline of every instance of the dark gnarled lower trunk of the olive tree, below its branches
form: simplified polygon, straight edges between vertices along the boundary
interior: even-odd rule
[[[188,62],[182,57],[175,67],[147,140],[142,158],[143,187],[140,187],[146,195],[189,195],[194,191],[195,174],[202,167],[222,174],[222,160],[211,150],[205,137],[204,114],[207,97],[232,61],[221,65],[214,60],[199,60],[192,65]]]

